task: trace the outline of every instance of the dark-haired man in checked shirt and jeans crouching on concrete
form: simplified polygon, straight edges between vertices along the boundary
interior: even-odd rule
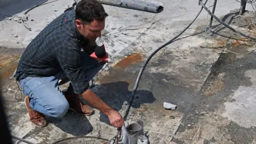
[[[98,1],[79,1],[75,10],[61,14],[27,46],[15,77],[28,95],[25,105],[34,125],[44,127],[45,116],[62,117],[68,109],[92,115],[93,109],[79,96],[106,114],[111,125],[123,125],[122,116],[89,89],[89,81],[105,62],[92,59],[93,50],[88,45],[101,36],[107,15]],[[58,85],[64,78],[70,81],[66,92]]]

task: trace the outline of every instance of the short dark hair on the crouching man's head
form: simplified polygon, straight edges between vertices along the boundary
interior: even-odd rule
[[[81,0],[76,5],[76,19],[83,23],[90,23],[93,20],[103,21],[108,17],[104,7],[96,0]]]

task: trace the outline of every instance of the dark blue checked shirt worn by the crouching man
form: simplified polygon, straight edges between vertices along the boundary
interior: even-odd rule
[[[83,93],[89,82],[81,65],[81,48],[86,39],[75,24],[75,10],[61,14],[27,46],[18,63],[17,81],[26,77],[49,77],[63,73],[75,93]]]

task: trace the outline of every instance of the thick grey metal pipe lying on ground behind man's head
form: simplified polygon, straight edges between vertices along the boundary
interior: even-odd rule
[[[139,10],[139,11],[146,11],[152,13],[159,13],[163,11],[164,4],[160,2],[143,2],[143,1],[136,1],[136,0],[97,0],[101,4],[106,5],[113,5],[118,7],[124,7],[127,9]]]

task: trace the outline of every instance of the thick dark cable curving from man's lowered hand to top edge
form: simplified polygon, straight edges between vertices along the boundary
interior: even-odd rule
[[[206,4],[207,1],[208,1],[208,0],[206,0],[206,2],[205,2],[204,4]],[[163,44],[162,46],[158,47],[153,53],[151,53],[151,54],[149,55],[149,57],[147,58],[147,60],[143,63],[143,66],[142,66],[142,68],[140,69],[139,75],[138,75],[138,77],[137,77],[137,79],[136,79],[136,82],[135,82],[135,85],[134,85],[134,87],[133,87],[130,100],[129,100],[129,102],[128,102],[127,106],[126,106],[125,112],[124,112],[124,116],[123,116],[124,120],[127,118],[127,115],[129,114],[129,111],[130,111],[130,108],[131,108],[131,104],[132,104],[132,102],[133,102],[134,95],[135,95],[135,93],[136,93],[136,91],[137,91],[137,88],[138,88],[138,85],[139,85],[139,81],[140,81],[141,75],[142,75],[144,69],[146,68],[147,63],[149,62],[149,60],[150,60],[159,50],[161,50],[161,49],[163,49],[163,47],[165,47],[165,46],[167,46],[167,45],[173,43],[176,38],[178,38],[181,34],[183,34],[183,33],[195,22],[195,20],[197,19],[197,17],[199,16],[199,14],[202,12],[202,10],[203,10],[203,7],[201,7],[201,10],[198,12],[198,14],[196,15],[195,19],[194,19],[193,21],[191,21],[191,22],[189,23],[189,25],[188,25],[185,29],[183,29],[177,36],[175,36],[174,38],[172,38],[170,41],[168,41],[168,42],[166,42],[165,44]],[[120,131],[120,130],[119,130],[119,131]],[[119,133],[119,131],[117,130],[116,133]],[[111,140],[111,144],[113,144],[115,140],[116,140],[116,139]]]

